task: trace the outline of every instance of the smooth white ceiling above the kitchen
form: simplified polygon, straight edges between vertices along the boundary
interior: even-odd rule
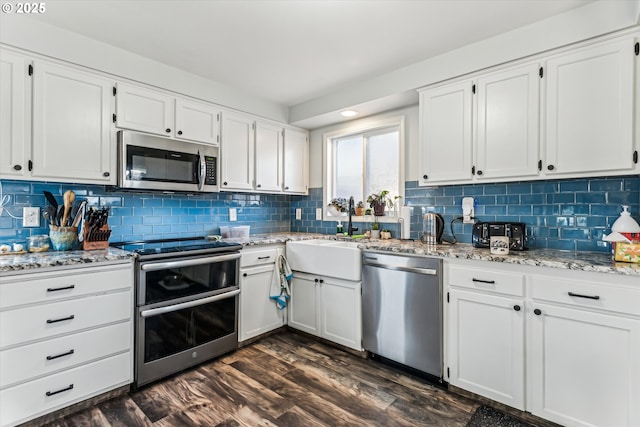
[[[594,0],[51,0],[34,16],[291,107]]]

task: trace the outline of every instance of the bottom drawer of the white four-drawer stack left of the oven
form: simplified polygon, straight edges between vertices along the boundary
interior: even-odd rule
[[[132,366],[127,352],[2,390],[0,425],[13,426],[126,385],[132,380]]]

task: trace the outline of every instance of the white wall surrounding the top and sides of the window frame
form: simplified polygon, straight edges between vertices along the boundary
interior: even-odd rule
[[[418,106],[401,108],[398,110],[387,111],[382,114],[364,117],[362,119],[351,120],[338,125],[326,126],[314,129],[309,133],[309,187],[323,187],[322,165],[323,165],[323,140],[322,135],[351,126],[366,126],[380,119],[397,117],[404,115],[405,130],[405,181],[417,180],[420,176],[419,168],[419,141],[418,141]]]

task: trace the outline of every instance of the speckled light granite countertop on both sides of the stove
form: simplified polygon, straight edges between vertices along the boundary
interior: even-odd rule
[[[240,243],[243,246],[260,246],[284,244],[288,241],[309,239],[336,239],[335,235],[316,233],[272,233],[256,234],[246,238],[224,239],[228,242]],[[358,247],[408,255],[425,255],[439,258],[471,259],[478,261],[503,262],[549,268],[592,271],[601,273],[623,274],[640,277],[640,265],[614,262],[611,255],[598,252],[569,252],[554,249],[531,249],[514,252],[509,255],[492,255],[489,249],[477,249],[469,243],[456,245],[437,245],[428,247],[419,241],[409,240],[352,240]],[[120,249],[109,248],[97,251],[45,252],[41,254],[3,255],[0,256],[0,276],[33,272],[38,269],[49,269],[58,266],[77,266],[78,264],[127,262],[134,254]]]

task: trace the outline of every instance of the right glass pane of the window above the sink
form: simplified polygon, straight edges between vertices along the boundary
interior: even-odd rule
[[[388,190],[391,199],[398,195],[399,136],[394,130],[367,138],[367,195],[382,190]]]

